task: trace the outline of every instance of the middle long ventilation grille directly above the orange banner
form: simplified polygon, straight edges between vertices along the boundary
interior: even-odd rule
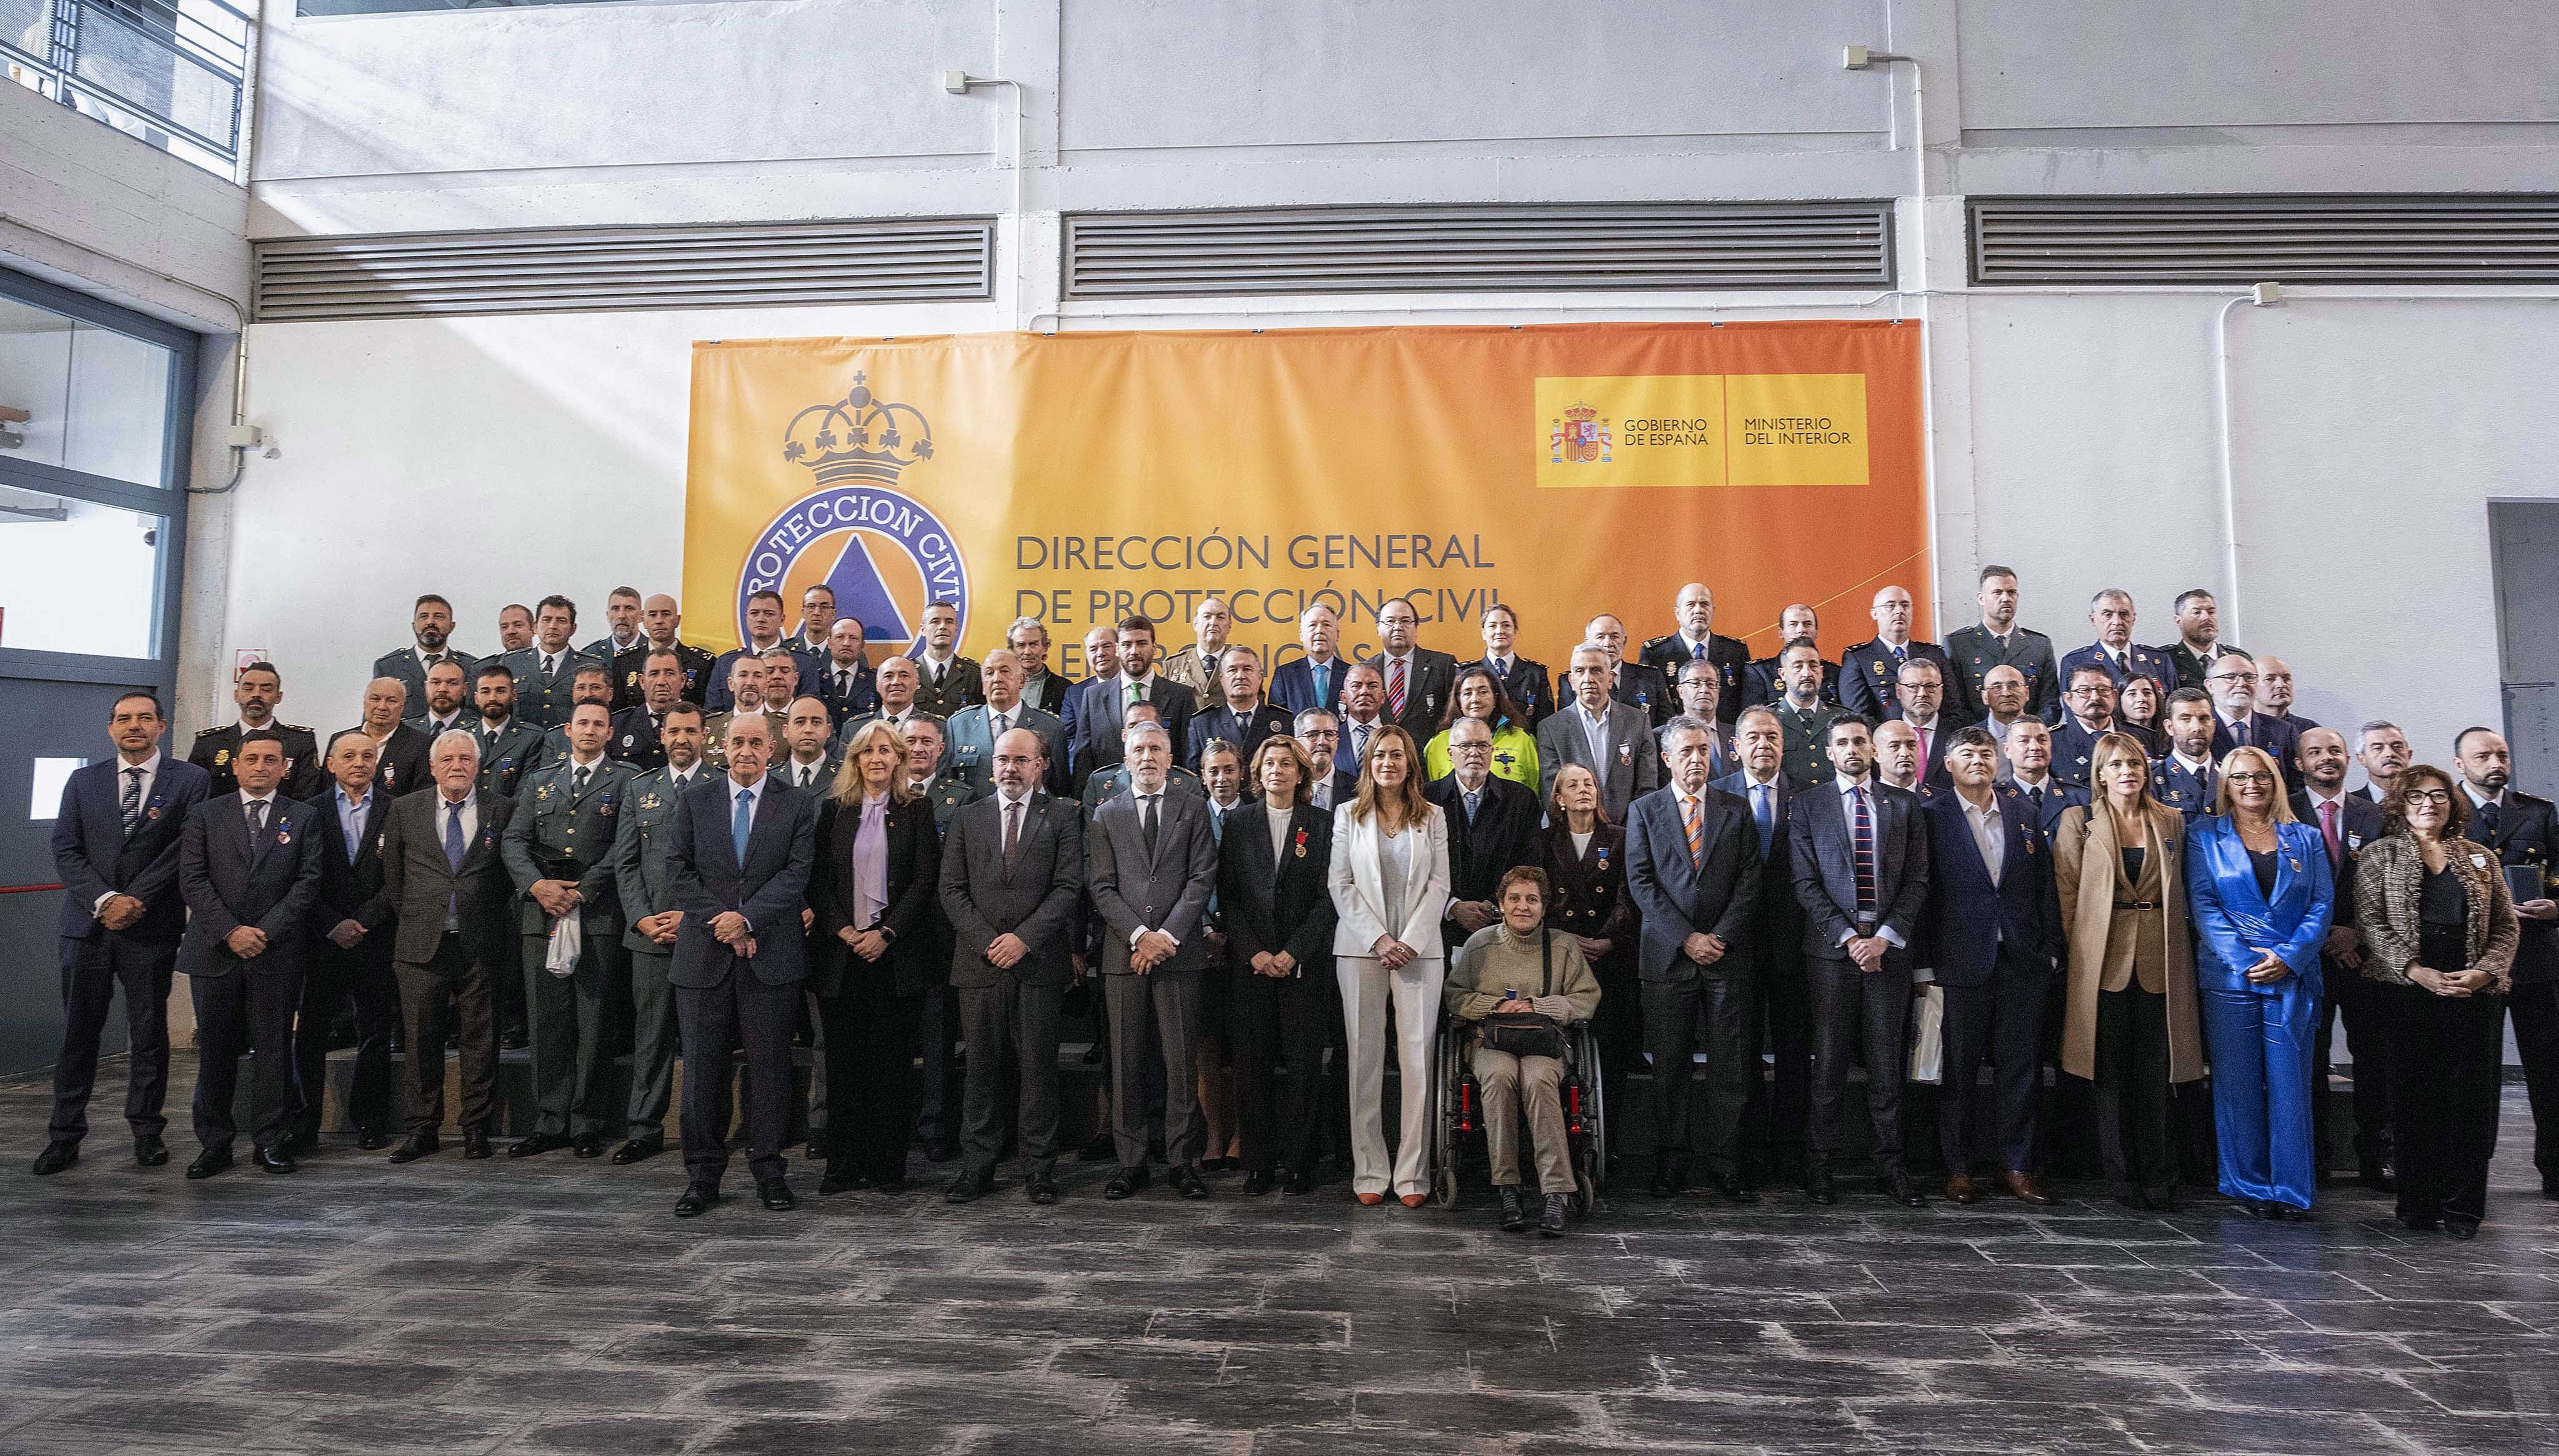
[[[1889,202],[1303,207],[1067,218],[1067,297],[1889,289]]]

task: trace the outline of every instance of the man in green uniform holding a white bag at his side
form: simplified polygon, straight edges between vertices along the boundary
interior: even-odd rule
[[[573,1146],[604,1154],[604,990],[622,975],[614,832],[632,768],[604,757],[612,716],[578,704],[568,755],[525,780],[499,857],[522,901],[525,1006],[532,1029],[532,1136],[507,1157]],[[571,944],[568,937],[576,937]],[[558,967],[558,970],[555,970]]]

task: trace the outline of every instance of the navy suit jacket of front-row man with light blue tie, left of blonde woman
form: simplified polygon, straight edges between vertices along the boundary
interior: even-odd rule
[[[816,796],[765,775],[747,829],[747,862],[737,862],[729,837],[734,798],[729,775],[706,778],[676,801],[676,832],[665,847],[665,885],[683,911],[668,983],[709,990],[729,980],[740,957],[711,937],[711,916],[737,911],[755,926],[755,960],[745,962],[765,985],[809,977],[809,944],[798,914],[809,906],[816,867]]]

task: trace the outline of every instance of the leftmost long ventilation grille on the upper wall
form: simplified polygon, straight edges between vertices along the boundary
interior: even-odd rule
[[[995,223],[386,233],[258,243],[256,317],[983,299]]]

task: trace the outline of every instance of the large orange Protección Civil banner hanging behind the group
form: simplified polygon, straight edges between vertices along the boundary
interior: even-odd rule
[[[699,343],[688,627],[737,642],[747,594],[796,619],[827,581],[875,653],[947,599],[962,650],[1039,617],[1080,673],[1093,624],[1172,647],[1205,594],[1264,660],[1310,601],[1367,655],[1402,596],[1428,647],[1482,655],[1502,601],[1561,665],[1704,581],[1753,655],[1789,601],[1837,653],[1876,586],[1927,601],[1919,399],[1917,322]]]

